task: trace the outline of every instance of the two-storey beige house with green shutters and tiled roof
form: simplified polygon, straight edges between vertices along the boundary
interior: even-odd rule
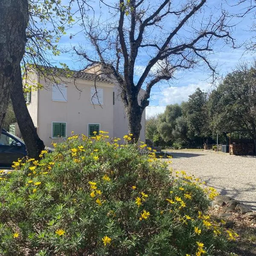
[[[25,95],[38,135],[46,146],[67,138],[72,131],[88,137],[99,130],[119,138],[128,133],[118,83],[97,76],[92,69],[72,71],[69,77],[65,70],[56,70],[58,76],[53,75],[51,79],[42,79],[37,72],[31,72],[28,83],[40,84],[43,89]],[[145,111],[141,124],[140,140],[145,141]]]

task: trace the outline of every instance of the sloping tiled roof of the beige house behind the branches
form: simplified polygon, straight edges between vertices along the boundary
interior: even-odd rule
[[[38,66],[37,70],[40,73],[44,73],[44,75],[48,75],[48,76],[62,76],[67,78],[83,79],[83,80],[98,81],[98,82],[113,84],[113,82],[108,79],[105,79],[105,78],[102,78],[101,76],[97,76],[96,74],[87,73],[84,71],[65,70],[63,68],[58,68],[58,67],[43,67],[43,66]]]

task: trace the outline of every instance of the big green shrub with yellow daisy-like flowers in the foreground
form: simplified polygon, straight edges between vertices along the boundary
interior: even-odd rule
[[[15,162],[0,180],[0,255],[201,256],[235,238],[205,214],[214,189],[118,141],[74,135]]]

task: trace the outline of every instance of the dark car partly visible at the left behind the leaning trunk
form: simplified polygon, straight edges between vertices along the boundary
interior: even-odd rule
[[[10,167],[13,161],[26,155],[24,141],[2,129],[0,134],[0,167]]]

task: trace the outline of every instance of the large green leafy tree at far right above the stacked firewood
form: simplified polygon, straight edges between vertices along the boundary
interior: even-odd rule
[[[215,131],[247,130],[256,149],[256,65],[229,73],[209,98]]]

